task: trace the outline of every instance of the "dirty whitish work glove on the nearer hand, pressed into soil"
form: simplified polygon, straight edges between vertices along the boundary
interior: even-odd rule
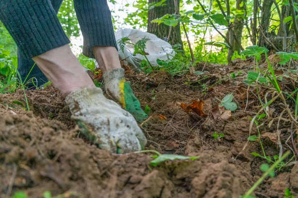
[[[128,153],[146,146],[146,137],[135,118],[106,99],[100,88],[76,90],[66,97],[66,103],[81,133],[99,148]]]

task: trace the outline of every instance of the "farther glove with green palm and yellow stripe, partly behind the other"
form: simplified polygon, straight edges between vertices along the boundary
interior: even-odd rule
[[[130,82],[125,81],[123,68],[104,73],[103,79],[107,94],[119,101],[123,108],[129,111],[138,122],[148,118],[148,115],[141,108],[140,101],[134,95]]]

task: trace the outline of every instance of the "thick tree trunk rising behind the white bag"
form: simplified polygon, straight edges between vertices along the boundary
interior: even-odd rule
[[[161,0],[149,0],[149,4],[157,3]],[[180,0],[176,0],[179,5]],[[175,13],[175,4],[174,0],[166,0],[164,2],[166,5],[153,7],[148,11],[148,29],[149,33],[155,34],[158,38],[167,40],[170,32],[170,26],[164,25],[163,23],[157,25],[157,23],[151,23],[152,20],[156,18],[160,18],[166,14],[174,14]],[[179,7],[179,6],[178,6]],[[181,40],[181,32],[180,32],[180,24],[172,27],[171,34],[168,42],[171,45],[179,44],[182,45]]]

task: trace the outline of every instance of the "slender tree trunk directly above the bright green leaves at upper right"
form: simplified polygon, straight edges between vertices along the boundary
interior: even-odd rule
[[[266,38],[269,37],[268,28],[270,24],[272,4],[272,0],[264,0],[262,7],[262,19],[260,24],[261,28],[259,29],[259,31],[262,31]],[[270,45],[267,44],[266,39],[264,39],[262,33],[259,34],[258,46],[271,49]]]

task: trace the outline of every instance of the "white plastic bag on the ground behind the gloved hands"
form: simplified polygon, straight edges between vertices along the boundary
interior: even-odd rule
[[[166,41],[163,41],[162,39],[159,39],[156,35],[150,34],[148,32],[142,32],[141,30],[135,30],[135,29],[119,29],[115,33],[116,41],[128,37],[131,41],[130,43],[136,44],[140,39],[146,37],[150,40],[146,43],[146,49],[145,52],[147,52],[149,55],[146,55],[149,62],[152,65],[158,65],[156,62],[156,59],[160,60],[167,60],[172,59],[172,57],[175,55],[175,51],[172,49],[172,46],[167,43]],[[119,53],[119,59],[120,60],[126,60],[128,63],[131,63],[136,68],[139,68],[141,65],[141,61],[145,59],[144,55],[136,54],[134,53],[134,46],[130,44],[125,45],[124,52],[120,49],[118,45],[118,53]],[[169,54],[169,56],[167,56]]]

